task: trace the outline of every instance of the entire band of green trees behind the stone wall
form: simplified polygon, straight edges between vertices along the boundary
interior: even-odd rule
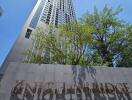
[[[95,7],[80,23],[35,29],[26,62],[131,67],[132,25],[118,18],[121,11]]]

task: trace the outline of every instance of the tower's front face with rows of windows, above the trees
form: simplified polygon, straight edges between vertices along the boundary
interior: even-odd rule
[[[54,25],[75,22],[72,0],[46,0],[40,20]]]

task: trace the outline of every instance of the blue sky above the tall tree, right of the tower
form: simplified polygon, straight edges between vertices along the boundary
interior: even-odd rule
[[[118,6],[123,8],[123,12],[119,15],[121,19],[132,23],[132,0],[73,0],[77,17],[81,17],[86,11],[92,12],[96,6],[101,10],[105,4],[112,6],[114,9]]]

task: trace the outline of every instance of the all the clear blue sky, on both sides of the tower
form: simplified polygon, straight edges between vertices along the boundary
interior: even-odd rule
[[[4,14],[0,17],[0,64],[4,61],[14,44],[20,30],[28,18],[36,0],[0,0]],[[116,8],[120,5],[124,11],[120,18],[132,23],[132,0],[73,0],[77,18],[93,7],[102,9],[105,4]]]

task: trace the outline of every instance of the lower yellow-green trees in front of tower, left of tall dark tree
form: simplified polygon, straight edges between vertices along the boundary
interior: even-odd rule
[[[33,33],[33,47],[26,53],[26,62],[87,65],[91,60],[88,44],[92,41],[93,30],[92,26],[74,23],[59,28],[37,28]]]

